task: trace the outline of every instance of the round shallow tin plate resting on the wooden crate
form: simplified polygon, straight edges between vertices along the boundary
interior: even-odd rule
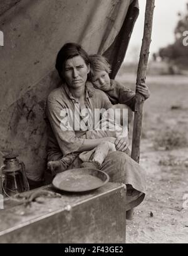
[[[53,186],[68,192],[83,192],[100,188],[109,181],[104,171],[91,168],[76,168],[56,174]]]

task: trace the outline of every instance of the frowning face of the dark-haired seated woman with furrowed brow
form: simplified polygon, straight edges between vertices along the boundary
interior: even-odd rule
[[[85,60],[79,55],[66,60],[63,77],[70,88],[78,89],[85,87],[90,66],[87,66]]]

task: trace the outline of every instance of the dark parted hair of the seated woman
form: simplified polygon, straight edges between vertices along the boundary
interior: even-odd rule
[[[78,45],[77,43],[66,43],[58,52],[55,67],[63,82],[64,78],[62,76],[62,72],[64,72],[66,60],[73,58],[75,56],[81,56],[83,60],[85,60],[86,65],[89,65],[90,59],[88,54],[85,50],[83,50],[81,45]]]

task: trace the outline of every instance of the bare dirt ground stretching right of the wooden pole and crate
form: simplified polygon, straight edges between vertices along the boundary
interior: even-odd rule
[[[133,89],[135,75],[117,80]],[[140,164],[147,195],[127,221],[127,243],[188,243],[188,77],[147,77]]]

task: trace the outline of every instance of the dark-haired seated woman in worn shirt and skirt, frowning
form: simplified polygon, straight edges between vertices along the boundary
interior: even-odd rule
[[[95,109],[107,110],[112,107],[107,95],[87,81],[89,56],[80,45],[67,43],[57,55],[56,70],[63,83],[50,93],[47,101],[46,114],[51,127],[48,161],[63,159],[61,164],[64,168],[79,168],[82,164],[78,157],[80,152],[90,151],[103,142],[112,142],[117,151],[108,152],[101,169],[108,173],[110,181],[127,185],[127,210],[139,205],[145,196],[144,173],[123,152],[127,149],[127,141],[114,137],[88,139],[95,133],[91,129],[95,123]],[[86,109],[88,115],[83,122],[85,116],[81,111]]]

